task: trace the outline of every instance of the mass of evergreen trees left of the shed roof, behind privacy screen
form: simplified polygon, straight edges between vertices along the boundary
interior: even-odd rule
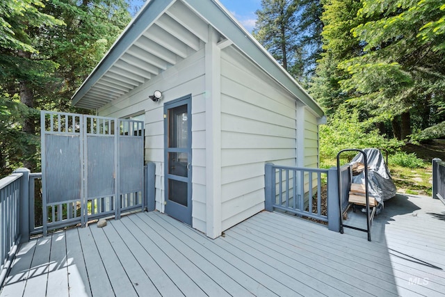
[[[72,93],[130,16],[124,0],[6,3],[0,4],[0,22],[7,24],[2,30],[9,34],[0,38],[0,126],[10,129],[1,138],[0,166],[3,173],[18,166],[34,171],[38,110],[72,110]]]

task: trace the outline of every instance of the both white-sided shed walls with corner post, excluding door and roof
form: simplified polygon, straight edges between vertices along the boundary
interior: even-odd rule
[[[99,115],[145,113],[145,161],[156,163],[156,209],[163,211],[163,103],[192,94],[193,227],[216,237],[264,209],[265,163],[317,166],[318,126],[306,106],[234,47],[209,42]],[[160,102],[148,98],[154,90],[162,91]]]

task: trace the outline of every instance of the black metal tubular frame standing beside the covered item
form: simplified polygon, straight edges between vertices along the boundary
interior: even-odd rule
[[[339,207],[340,207],[340,233],[343,234],[343,227],[347,227],[350,229],[354,229],[354,230],[359,230],[362,232],[366,232],[368,234],[368,241],[371,241],[371,225],[372,225],[372,220],[373,220],[373,214],[371,216],[370,212],[369,212],[369,189],[368,189],[368,158],[366,157],[366,154],[364,153],[364,151],[362,150],[357,150],[357,149],[345,149],[345,150],[341,150],[338,154],[337,154],[337,168],[340,168],[340,155],[343,152],[359,152],[361,154],[363,154],[364,156],[364,179],[365,179],[365,197],[366,197],[366,229],[362,229],[359,227],[355,227],[355,226],[350,226],[350,225],[345,225],[343,224],[343,209],[342,209],[342,205],[341,205],[341,199],[339,199]],[[339,175],[339,197],[341,197],[341,176],[340,176],[340,170],[337,170],[338,175]]]

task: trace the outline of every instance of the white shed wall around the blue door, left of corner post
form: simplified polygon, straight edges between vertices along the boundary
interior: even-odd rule
[[[192,182],[193,227],[206,232],[206,152],[205,152],[205,61],[204,45],[196,54],[165,70],[148,83],[116,99],[99,110],[99,115],[127,118],[145,113],[145,161],[156,163],[156,209],[163,211],[164,199],[164,119],[163,103],[192,95]],[[148,98],[161,90],[159,102]]]

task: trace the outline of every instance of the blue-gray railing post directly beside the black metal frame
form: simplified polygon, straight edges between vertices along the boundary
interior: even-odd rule
[[[331,167],[327,171],[327,227],[331,231],[340,232],[339,203],[339,168]]]

